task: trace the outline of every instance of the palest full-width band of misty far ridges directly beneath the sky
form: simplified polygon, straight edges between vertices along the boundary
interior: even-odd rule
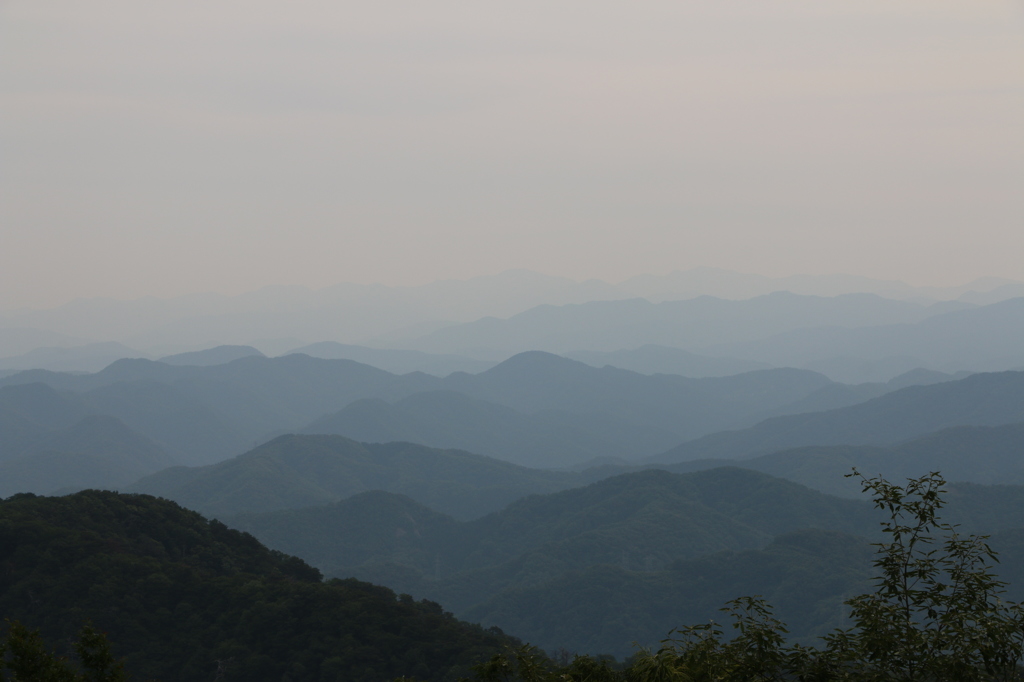
[[[936,345],[929,327],[845,330],[919,325],[1022,295],[1024,285],[1000,280],[936,289],[865,278],[773,280],[698,268],[616,285],[513,270],[412,288],[338,285],[319,291],[268,288],[236,297],[83,299],[50,310],[0,314],[0,371],[95,372],[117,357],[159,358],[244,345],[267,355],[299,350],[397,373],[444,376],[479,372],[525,350],[607,353],[655,344],[715,359],[701,366],[690,358],[680,366],[678,358],[660,365],[648,358],[651,372],[722,376],[742,368],[802,367],[847,383],[887,381],[915,367],[956,372],[1024,365],[1015,350],[1020,330],[1011,330],[1013,338],[996,346],[985,334],[991,323],[982,321],[979,328],[969,317],[948,321],[950,328],[969,326],[969,338],[958,343]],[[763,296],[769,298],[752,302]],[[978,330],[974,336],[972,329]],[[772,338],[785,334],[795,336]],[[981,343],[972,345],[976,341]],[[339,346],[315,345],[324,342]],[[101,343],[121,346],[96,345]]]

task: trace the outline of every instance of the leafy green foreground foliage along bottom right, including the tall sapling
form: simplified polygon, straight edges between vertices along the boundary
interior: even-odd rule
[[[889,514],[878,544],[876,590],[848,600],[853,627],[820,647],[786,642],[786,627],[760,597],[727,605],[732,637],[712,622],[674,631],[656,651],[642,650],[622,671],[588,677],[573,662],[558,666],[528,648],[496,654],[474,679],[492,682],[995,682],[1020,680],[1024,607],[1001,601],[995,555],[981,536],[941,523],[938,473],[905,486],[860,477]],[[593,664],[594,662],[591,662]]]

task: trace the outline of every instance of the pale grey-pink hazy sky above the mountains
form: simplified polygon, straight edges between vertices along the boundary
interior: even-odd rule
[[[0,306],[1024,279],[1024,4],[0,0]]]

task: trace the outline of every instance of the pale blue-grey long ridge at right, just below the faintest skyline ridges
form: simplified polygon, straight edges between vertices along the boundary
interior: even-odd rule
[[[1024,298],[978,307],[863,294],[601,301],[446,327],[410,344],[479,356],[532,348],[594,365],[611,356],[646,373],[712,376],[746,363],[811,369],[844,383],[885,382],[918,368],[954,373],[1024,367]],[[645,345],[678,350],[623,350]]]

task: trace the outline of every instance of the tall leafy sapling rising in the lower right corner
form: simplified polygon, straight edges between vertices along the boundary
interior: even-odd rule
[[[862,479],[885,509],[889,542],[874,562],[874,593],[848,602],[855,628],[826,639],[831,654],[900,680],[1001,679],[1024,647],[1024,608],[1004,603],[1005,583],[984,536],[961,537],[938,520],[944,480],[937,473],[905,487]],[[939,548],[934,534],[943,539]]]

